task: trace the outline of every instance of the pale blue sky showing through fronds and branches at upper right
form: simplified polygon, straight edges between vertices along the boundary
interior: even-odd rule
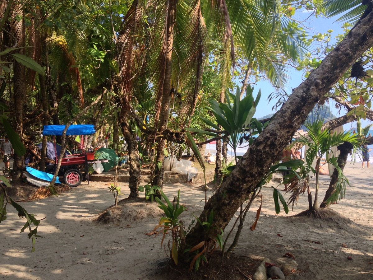
[[[300,12],[297,16],[298,19],[301,19],[304,15],[307,15],[305,12]],[[307,27],[313,29],[314,33],[325,33],[329,29],[333,29],[332,36],[331,36],[331,43],[335,42],[335,36],[338,34],[343,33],[343,30],[341,26],[344,24],[344,22],[336,22],[336,19],[338,17],[334,18],[313,18],[309,24],[307,24]],[[308,31],[308,35],[312,37],[313,34]],[[310,46],[310,50],[313,49],[312,45]],[[291,93],[292,88],[298,87],[302,83],[302,72],[292,70],[289,73],[289,76],[291,77],[288,83],[288,87],[286,88],[287,93]],[[257,107],[257,112],[255,114],[255,117],[260,118],[265,115],[268,115],[269,113],[275,113],[272,112],[272,107],[275,105],[276,100],[271,100],[270,103],[268,103],[267,97],[269,94],[271,94],[273,91],[276,91],[274,87],[270,85],[270,83],[266,81],[260,81],[257,83],[257,85],[254,85],[254,95],[258,92],[259,88],[261,89],[261,99]],[[335,108],[335,103],[330,102],[330,111],[333,112],[334,115],[340,116],[338,113],[338,110]],[[343,111],[343,110],[341,110]],[[343,112],[342,112],[343,113]],[[363,127],[371,124],[372,122],[370,120],[363,121]],[[356,127],[356,122],[352,124],[346,124],[344,125],[345,130],[349,130],[351,127]]]

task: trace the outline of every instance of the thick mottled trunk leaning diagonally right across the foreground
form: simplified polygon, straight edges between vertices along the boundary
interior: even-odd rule
[[[207,221],[211,210],[214,211],[214,222],[211,226],[214,230],[209,233],[211,239],[213,239],[213,234],[220,231],[220,228],[224,230],[239,206],[253,192],[319,99],[332,88],[352,63],[373,45],[373,12],[371,10],[325,57],[320,66],[293,90],[288,101],[283,104],[273,120],[238,162],[232,175],[209,199],[199,218],[201,221]],[[197,223],[186,236],[186,244],[194,246],[203,240],[204,228]]]

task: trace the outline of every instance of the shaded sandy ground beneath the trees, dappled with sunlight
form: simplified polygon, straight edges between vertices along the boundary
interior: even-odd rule
[[[373,169],[362,169],[361,163],[348,164],[345,175],[353,189],[348,187],[346,198],[332,209],[351,221],[340,217],[290,217],[307,209],[305,196],[300,197],[293,212],[276,215],[272,191],[264,189],[257,228],[250,231],[259,200],[246,218],[236,255],[267,257],[281,265],[289,261],[283,255],[292,253],[298,269],[304,271],[286,279],[373,279]],[[328,178],[322,176],[320,200],[329,185]],[[19,232],[25,220],[19,219],[8,206],[8,218],[0,224],[0,278],[163,279],[155,274],[168,259],[160,249],[161,237],[145,235],[158,223],[157,218],[122,221],[120,225],[95,221],[101,211],[114,203],[108,186],[100,182],[83,183],[57,197],[23,202],[28,212],[38,218],[46,217],[38,228],[43,238],[37,238],[33,253],[27,233]],[[128,196],[127,185],[120,186],[123,198]],[[181,189],[181,203],[189,209],[182,214],[186,228],[194,219],[192,214],[199,215],[204,206],[204,192],[196,187],[164,187],[169,197]]]

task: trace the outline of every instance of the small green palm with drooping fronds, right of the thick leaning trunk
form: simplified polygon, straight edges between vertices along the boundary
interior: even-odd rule
[[[319,119],[314,122],[305,122],[305,127],[308,130],[308,135],[301,136],[298,141],[302,144],[307,145],[308,149],[305,151],[305,162],[304,168],[301,169],[301,172],[298,174],[301,177],[300,184],[293,184],[291,186],[290,191],[292,195],[289,199],[290,202],[294,203],[297,201],[298,196],[300,193],[304,193],[307,190],[308,193],[308,203],[309,209],[306,211],[306,214],[309,212],[315,212],[319,209],[318,204],[318,194],[319,194],[319,175],[320,175],[320,167],[322,166],[321,161],[323,156],[326,154],[325,157],[325,164],[332,164],[335,169],[338,171],[341,184],[340,186],[344,186],[345,183],[348,183],[348,180],[342,174],[341,168],[338,166],[337,157],[330,156],[329,150],[331,147],[335,147],[338,145],[343,144],[344,142],[349,142],[352,144],[354,148],[358,148],[360,141],[358,139],[357,134],[352,134],[351,132],[347,133],[332,133],[329,129],[322,130],[323,120]],[[316,158],[316,166],[314,166],[314,161]],[[314,193],[314,201],[312,203],[312,196],[310,195],[310,176],[311,174],[316,175],[316,187]],[[339,188],[338,194],[342,197],[344,196],[345,188]]]

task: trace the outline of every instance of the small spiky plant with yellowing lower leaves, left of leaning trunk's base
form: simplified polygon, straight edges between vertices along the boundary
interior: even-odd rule
[[[154,228],[154,231],[162,228],[156,233],[156,237],[158,234],[163,233],[162,242],[161,242],[161,249],[163,245],[164,238],[166,237],[167,232],[171,232],[172,234],[172,245],[170,246],[170,241],[168,242],[168,249],[170,251],[170,256],[173,262],[177,265],[178,264],[178,250],[180,246],[184,246],[182,243],[185,243],[185,235],[183,229],[183,223],[180,220],[179,216],[182,212],[184,212],[185,207],[180,205],[180,190],[178,191],[177,198],[175,197],[175,201],[173,203],[167,198],[167,196],[161,191],[160,192],[163,199],[166,201],[167,204],[164,204],[159,197],[156,197],[156,201],[159,204],[159,208],[163,210],[166,217],[162,217],[159,221],[159,225]],[[164,250],[166,251],[166,245],[164,246]]]

